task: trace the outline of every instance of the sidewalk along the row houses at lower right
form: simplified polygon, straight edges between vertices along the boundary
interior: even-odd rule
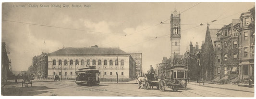
[[[203,86],[203,87],[209,87],[209,88],[218,88],[218,89],[229,89],[229,90],[235,90],[235,91],[244,91],[244,92],[252,92],[254,93],[254,88],[248,88],[248,87],[239,87],[235,84],[212,84],[212,83],[203,83],[201,82],[201,85],[196,82],[189,81],[188,84],[197,85],[197,86]]]

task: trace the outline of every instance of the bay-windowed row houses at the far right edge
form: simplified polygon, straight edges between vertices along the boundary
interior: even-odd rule
[[[215,50],[215,78],[248,79],[254,72],[254,24],[252,12],[218,30]]]

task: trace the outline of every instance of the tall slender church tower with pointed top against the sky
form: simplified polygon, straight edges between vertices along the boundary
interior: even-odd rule
[[[181,13],[171,12],[171,58],[181,54]]]

